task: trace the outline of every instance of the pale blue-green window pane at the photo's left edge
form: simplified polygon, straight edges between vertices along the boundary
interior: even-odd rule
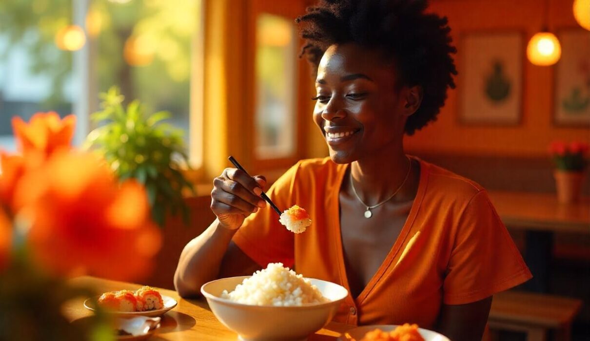
[[[11,119],[73,111],[78,95],[71,52],[55,34],[71,24],[71,2],[0,2],[0,149],[15,151]]]

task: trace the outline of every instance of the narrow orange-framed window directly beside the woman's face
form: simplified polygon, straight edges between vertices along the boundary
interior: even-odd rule
[[[304,1],[251,0],[246,34],[245,128],[248,161],[253,173],[276,179],[306,158],[313,81],[307,61],[298,58],[303,41],[294,21]],[[251,115],[251,117],[250,117]]]

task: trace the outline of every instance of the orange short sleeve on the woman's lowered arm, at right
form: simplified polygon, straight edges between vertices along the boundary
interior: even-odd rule
[[[466,304],[532,278],[487,192],[471,198],[455,230],[443,283],[445,304]]]

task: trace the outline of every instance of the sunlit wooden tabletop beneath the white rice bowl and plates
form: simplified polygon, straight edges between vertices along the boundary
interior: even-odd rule
[[[77,277],[71,280],[74,285],[94,287],[97,292],[110,292],[115,290],[136,290],[139,284],[116,282],[96,277]],[[159,289],[160,293],[173,297],[178,301],[178,306],[162,316],[162,326],[159,332],[150,340],[182,340],[182,341],[225,341],[237,340],[236,333],[227,329],[215,318],[209,310],[207,301],[203,298],[185,300],[172,290]],[[68,302],[64,306],[64,314],[70,320],[92,314],[84,308],[84,299]],[[342,333],[354,326],[331,322],[324,329],[309,337],[308,341],[335,341]]]

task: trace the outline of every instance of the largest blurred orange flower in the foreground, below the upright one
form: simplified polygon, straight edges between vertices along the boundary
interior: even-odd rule
[[[145,189],[134,180],[119,186],[93,154],[57,152],[25,174],[16,192],[42,269],[116,280],[149,273],[161,236],[149,219]]]

